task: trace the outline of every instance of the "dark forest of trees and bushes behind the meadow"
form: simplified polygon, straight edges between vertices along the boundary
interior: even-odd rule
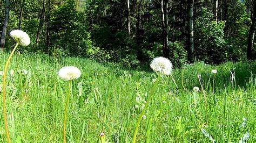
[[[174,67],[203,61],[255,60],[253,0],[52,1],[1,0],[2,51],[21,29],[31,45],[21,53],[79,56],[143,66],[156,56]]]

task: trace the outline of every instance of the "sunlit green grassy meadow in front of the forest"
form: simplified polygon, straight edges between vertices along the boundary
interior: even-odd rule
[[[7,58],[7,54],[0,53],[0,70]],[[11,140],[62,141],[69,82],[57,74],[64,66],[76,66],[82,71],[82,76],[73,81],[67,141],[96,142],[99,133],[105,132],[111,142],[131,142],[156,73],[89,59],[56,59],[38,54],[16,54],[8,69],[6,104]],[[217,69],[217,74],[212,74],[212,69]],[[137,141],[238,142],[249,133],[248,141],[254,142],[255,74],[256,62],[219,66],[198,62],[174,69],[171,76],[159,81],[140,123]],[[2,87],[2,76],[0,84]],[[199,87],[199,92],[193,87]],[[2,98],[0,103],[2,111]],[[5,142],[2,112],[0,118],[0,141]]]

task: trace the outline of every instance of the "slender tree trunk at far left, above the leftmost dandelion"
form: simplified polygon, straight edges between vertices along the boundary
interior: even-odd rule
[[[5,0],[5,19],[4,19],[4,26],[3,26],[3,31],[1,35],[1,48],[2,50],[4,49],[5,45],[5,37],[6,37],[6,31],[7,31],[7,26],[8,26],[8,21],[9,21],[9,13],[10,13],[10,2],[9,0]]]

